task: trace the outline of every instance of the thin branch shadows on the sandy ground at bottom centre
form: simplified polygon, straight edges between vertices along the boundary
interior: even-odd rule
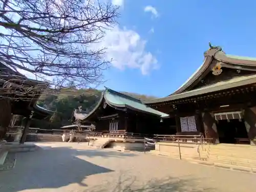
[[[217,192],[216,188],[199,186],[198,183],[200,182],[200,179],[168,177],[138,183],[136,177],[124,179],[120,176],[115,183],[112,181],[111,183],[91,187],[84,190],[84,192]]]

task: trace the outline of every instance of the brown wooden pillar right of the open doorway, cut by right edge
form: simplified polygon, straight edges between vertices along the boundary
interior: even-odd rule
[[[256,106],[244,109],[244,123],[250,144],[256,145]]]

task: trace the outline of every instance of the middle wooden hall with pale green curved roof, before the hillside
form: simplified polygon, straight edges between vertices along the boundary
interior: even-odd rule
[[[106,88],[95,108],[81,123],[94,123],[96,132],[161,133],[162,119],[168,114],[159,112],[134,97]]]

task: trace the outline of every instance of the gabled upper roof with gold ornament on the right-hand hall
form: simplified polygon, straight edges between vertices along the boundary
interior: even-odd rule
[[[174,99],[177,94],[182,95],[186,92],[210,86],[219,81],[232,80],[243,76],[253,76],[256,74],[256,58],[228,55],[223,52],[221,47],[210,48],[204,53],[203,64],[182,84],[174,93],[161,99],[143,101],[144,103],[157,103]],[[253,78],[254,79],[254,78]],[[255,79],[254,79],[255,80]],[[256,83],[256,80],[255,82]]]

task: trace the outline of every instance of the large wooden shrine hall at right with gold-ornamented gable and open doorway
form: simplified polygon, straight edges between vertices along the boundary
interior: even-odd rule
[[[144,103],[175,119],[177,135],[255,145],[256,58],[209,46],[203,64],[178,90]]]

